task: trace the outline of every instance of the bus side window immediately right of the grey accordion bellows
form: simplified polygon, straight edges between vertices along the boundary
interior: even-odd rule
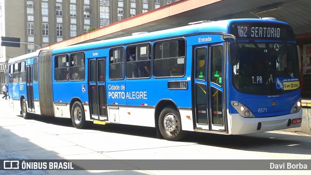
[[[69,60],[67,55],[55,56],[55,81],[68,81],[69,79]]]

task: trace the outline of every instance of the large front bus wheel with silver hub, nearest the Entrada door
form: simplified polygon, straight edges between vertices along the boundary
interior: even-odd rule
[[[180,140],[184,132],[181,129],[181,120],[179,113],[173,106],[165,107],[159,116],[159,130],[166,140]]]

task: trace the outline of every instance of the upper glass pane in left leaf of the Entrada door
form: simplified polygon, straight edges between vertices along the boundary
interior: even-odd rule
[[[196,49],[196,72],[195,77],[200,80],[206,80],[206,59],[207,59],[207,48]]]

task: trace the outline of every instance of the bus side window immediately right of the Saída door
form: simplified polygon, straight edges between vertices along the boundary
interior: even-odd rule
[[[122,79],[124,77],[124,48],[111,49],[109,58],[109,78]]]

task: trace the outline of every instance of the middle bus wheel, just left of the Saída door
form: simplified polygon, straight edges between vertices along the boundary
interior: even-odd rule
[[[86,117],[83,106],[80,102],[74,102],[70,111],[71,122],[77,129],[82,129],[86,126]]]

